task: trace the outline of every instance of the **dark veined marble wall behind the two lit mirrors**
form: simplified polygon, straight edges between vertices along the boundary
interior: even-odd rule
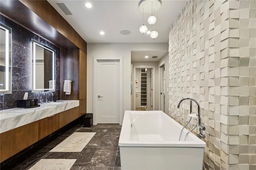
[[[34,39],[56,51],[56,98],[60,99],[60,48],[44,38],[30,32],[16,22],[0,15],[0,22],[12,28],[12,94],[0,95],[0,110],[16,107],[16,100],[23,99],[28,92],[28,99],[45,102],[45,92],[31,93],[31,39]]]

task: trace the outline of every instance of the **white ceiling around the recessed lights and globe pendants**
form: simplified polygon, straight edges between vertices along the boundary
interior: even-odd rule
[[[155,12],[157,22],[154,26],[159,34],[155,40],[148,34],[143,35],[139,32],[143,24],[143,12],[139,9],[140,0],[48,0],[48,2],[87,43],[167,43],[170,27],[185,7],[187,0],[161,0],[161,7]],[[86,2],[90,2],[92,8],[86,8]],[[64,14],[56,3],[64,3],[72,15]],[[144,25],[152,31],[153,26],[147,23],[150,15],[144,14]],[[129,30],[131,33],[122,35],[121,30]],[[105,34],[100,35],[101,31]],[[166,51],[168,52],[168,49]],[[163,53],[151,52],[140,52],[140,57],[136,58],[143,60],[145,55],[158,55],[156,60],[158,61]],[[153,60],[148,59],[148,61]]]

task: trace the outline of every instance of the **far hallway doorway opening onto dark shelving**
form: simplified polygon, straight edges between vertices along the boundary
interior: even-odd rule
[[[155,109],[155,67],[134,66],[133,71],[133,110],[150,111]]]

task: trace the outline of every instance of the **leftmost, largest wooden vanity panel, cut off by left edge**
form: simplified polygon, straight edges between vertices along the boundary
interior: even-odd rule
[[[39,121],[0,134],[0,162],[38,141]]]

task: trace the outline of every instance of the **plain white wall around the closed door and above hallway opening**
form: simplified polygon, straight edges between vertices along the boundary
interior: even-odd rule
[[[140,50],[166,51],[168,43],[87,43],[87,113],[93,113],[93,57],[123,57],[123,109],[131,110],[131,51]]]

